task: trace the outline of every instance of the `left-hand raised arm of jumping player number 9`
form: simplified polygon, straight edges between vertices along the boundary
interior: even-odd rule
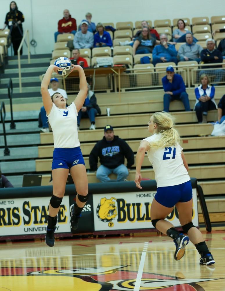
[[[41,93],[42,93],[42,101],[44,104],[44,109],[46,111],[47,114],[50,113],[53,103],[51,100],[51,96],[48,93],[48,85],[50,83],[50,79],[51,79],[51,75],[53,73],[53,71],[57,72],[59,68],[57,66],[54,65],[50,65],[44,75],[44,78],[42,80],[42,84],[41,84]]]

